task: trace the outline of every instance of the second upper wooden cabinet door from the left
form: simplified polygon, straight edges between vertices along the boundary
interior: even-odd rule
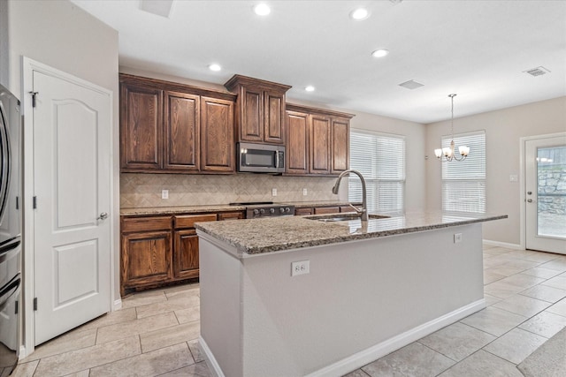
[[[200,97],[164,93],[164,169],[199,170]]]

